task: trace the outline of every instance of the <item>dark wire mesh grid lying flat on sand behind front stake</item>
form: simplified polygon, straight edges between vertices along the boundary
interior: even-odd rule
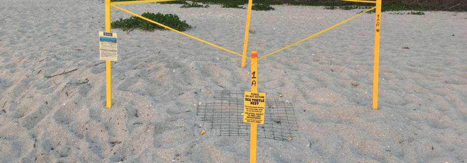
[[[249,136],[250,125],[243,123],[243,97],[244,91],[216,91],[214,102],[198,105],[196,115],[219,136]],[[258,137],[282,141],[294,137],[298,127],[290,102],[266,99],[264,116],[264,124],[258,124]]]

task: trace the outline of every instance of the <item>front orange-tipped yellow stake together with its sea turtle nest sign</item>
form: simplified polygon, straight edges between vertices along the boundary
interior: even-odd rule
[[[251,53],[251,92],[245,91],[243,122],[250,123],[250,163],[256,163],[257,124],[264,124],[266,93],[258,92],[258,53]]]

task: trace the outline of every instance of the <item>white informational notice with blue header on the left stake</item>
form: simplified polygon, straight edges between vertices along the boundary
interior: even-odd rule
[[[99,59],[117,61],[117,33],[99,32]]]

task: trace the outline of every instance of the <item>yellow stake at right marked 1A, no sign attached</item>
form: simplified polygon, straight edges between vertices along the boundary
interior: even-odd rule
[[[381,33],[381,0],[376,0],[375,63],[373,67],[373,109],[378,109],[378,79],[379,79],[379,68],[380,68],[380,33]]]

